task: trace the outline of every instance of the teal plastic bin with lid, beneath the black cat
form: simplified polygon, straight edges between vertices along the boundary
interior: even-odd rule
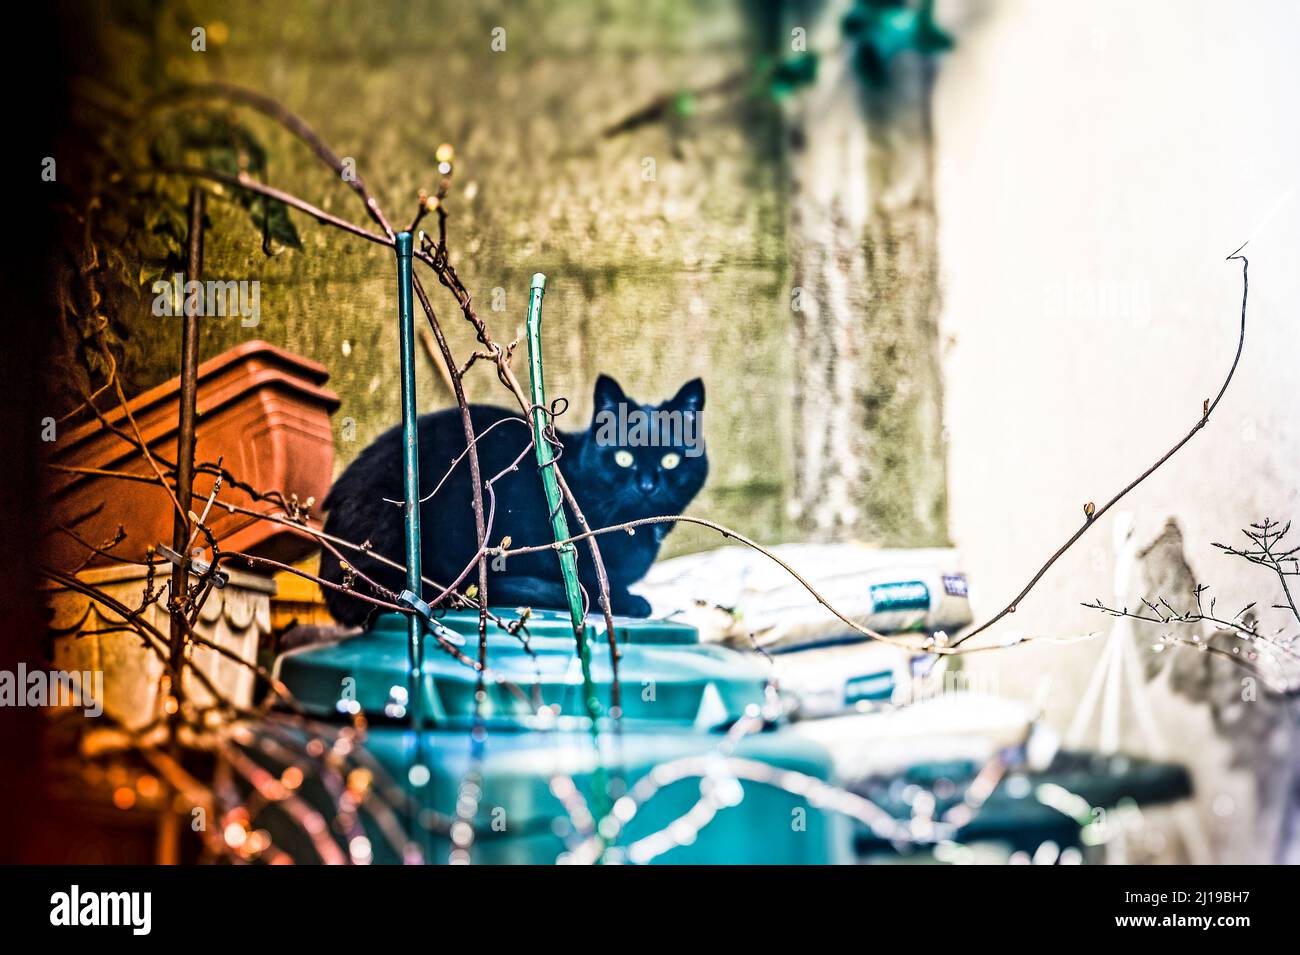
[[[694,628],[681,624],[615,622],[621,719],[602,717],[594,738],[567,613],[534,612],[519,634],[490,624],[491,676],[477,722],[477,673],[428,638],[420,681],[424,719],[420,729],[411,726],[407,622],[400,615],[381,617],[351,639],[285,654],[277,676],[318,720],[342,722],[364,713],[367,755],[400,789],[407,803],[399,807],[402,826],[428,861],[465,852],[480,864],[584,858],[592,842],[575,832],[566,804],[610,816],[603,861],[849,861],[852,826],[842,817],[753,778],[760,765],[831,781],[828,754],[780,724],[734,741],[725,735],[766,702],[762,660],[701,644]],[[437,624],[477,657],[477,613],[442,613]],[[603,620],[590,618],[586,631],[593,682],[608,712],[612,672]],[[753,763],[737,774],[724,754]],[[663,785],[653,795],[623,799],[645,795],[656,768],[653,778]],[[580,798],[568,791],[571,785]],[[703,804],[702,785],[710,793]],[[601,789],[608,794],[603,804]],[[637,811],[627,819],[633,802]],[[378,835],[370,838],[373,861],[400,861],[393,839]]]

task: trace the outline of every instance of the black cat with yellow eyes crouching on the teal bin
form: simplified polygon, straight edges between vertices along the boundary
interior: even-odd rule
[[[676,515],[686,508],[708,474],[699,433],[703,407],[705,386],[698,378],[663,404],[641,405],[630,401],[612,378],[601,376],[595,383],[592,426],[585,431],[558,434],[564,444],[560,469],[593,529],[638,517]],[[476,447],[482,479],[488,481],[506,470],[528,447],[530,427],[519,413],[504,408],[474,404],[469,411],[474,434],[481,435]],[[420,489],[421,496],[428,496],[452,459],[465,450],[465,433],[456,408],[421,416],[419,430]],[[493,487],[497,515],[490,543],[510,537],[511,544],[520,547],[554,539],[533,451],[524,456],[516,472],[507,473]],[[376,554],[404,564],[402,507],[389,503],[402,498],[402,429],[398,426],[365,448],[334,483],[325,499],[325,531],[352,543],[369,541]],[[420,508],[425,577],[450,583],[473,559],[477,533],[471,500],[469,463],[462,460],[438,492]],[[486,512],[486,494],[484,507]],[[568,517],[569,531],[577,533],[572,513]],[[615,613],[640,617],[650,613],[645,598],[629,594],[628,585],[650,569],[672,526],[655,524],[638,528],[634,534],[615,531],[598,538]],[[404,589],[402,572],[355,551],[342,552],[367,577],[395,591]],[[585,542],[580,543],[577,554],[578,577],[595,608],[599,590]],[[567,607],[554,551],[489,560],[489,568],[488,598],[494,605]],[[328,550],[321,552],[321,577],[334,583],[342,583],[344,577],[338,557]],[[477,573],[471,573],[460,589],[477,579]],[[369,592],[360,579],[354,587]],[[425,586],[424,599],[433,599],[436,594]],[[337,621],[348,625],[365,622],[374,609],[365,600],[332,589],[325,589],[325,603]]]

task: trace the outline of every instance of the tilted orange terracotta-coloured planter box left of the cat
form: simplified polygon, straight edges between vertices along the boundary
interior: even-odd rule
[[[195,463],[222,466],[259,491],[296,494],[300,502],[316,498],[312,513],[329,490],[334,466],[330,413],[338,396],[322,387],[329,379],[324,365],[277,348],[247,342],[199,365]],[[181,379],[173,378],[129,404],[150,450],[176,460],[177,413]],[[101,403],[103,407],[104,403]],[[131,433],[120,407],[105,412],[116,426]],[[57,464],[152,476],[148,461],[134,446],[88,421],[53,443]],[[112,539],[118,525],[126,539],[113,548],[116,557],[144,561],[150,544],[172,544],[172,500],[161,487],[96,474],[49,472],[53,522],[72,528],[88,543]],[[194,482],[194,511],[202,513],[212,491],[212,474]],[[273,511],[246,492],[222,485],[220,499],[257,511]],[[247,515],[213,507],[208,524],[222,550],[244,551],[281,561],[294,561],[315,550],[309,538]],[[66,534],[48,537],[48,559],[56,567],[75,567],[87,551]],[[92,564],[105,564],[96,557]]]

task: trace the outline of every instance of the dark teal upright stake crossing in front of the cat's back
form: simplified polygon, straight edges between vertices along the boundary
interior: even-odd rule
[[[415,400],[415,309],[411,307],[411,233],[398,233],[398,342],[402,361],[402,481],[406,499],[407,594],[403,603],[415,608],[424,589],[420,568],[420,435]],[[411,657],[411,719],[420,722],[420,673],[424,668],[424,621],[407,615]]]

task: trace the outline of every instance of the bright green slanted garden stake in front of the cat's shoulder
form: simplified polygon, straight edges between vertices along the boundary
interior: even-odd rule
[[[568,541],[568,518],[564,516],[564,502],[560,498],[560,485],[555,479],[555,448],[546,439],[547,408],[546,385],[542,381],[542,294],[546,291],[546,275],[536,273],[533,286],[528,295],[528,378],[532,386],[533,399],[533,446],[537,452],[537,468],[542,472],[542,489],[546,492],[546,507],[551,511],[551,534],[555,542]],[[568,599],[569,620],[573,624],[573,638],[577,641],[577,656],[582,667],[582,699],[586,704],[586,713],[592,720],[592,739],[597,742],[597,769],[593,776],[597,793],[594,794],[598,817],[607,811],[608,794],[606,793],[604,772],[599,767],[599,729],[601,700],[595,694],[595,683],[592,680],[592,647],[586,641],[586,616],[582,612],[582,590],[577,582],[577,548],[572,543],[559,547],[560,573],[564,576],[564,596]]]

